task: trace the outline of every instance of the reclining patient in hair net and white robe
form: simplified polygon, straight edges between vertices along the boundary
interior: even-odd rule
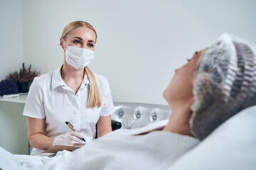
[[[168,169],[218,125],[256,104],[255,62],[254,45],[223,34],[175,70],[164,91],[169,120],[116,130],[53,158],[26,156],[22,161],[34,169]]]

